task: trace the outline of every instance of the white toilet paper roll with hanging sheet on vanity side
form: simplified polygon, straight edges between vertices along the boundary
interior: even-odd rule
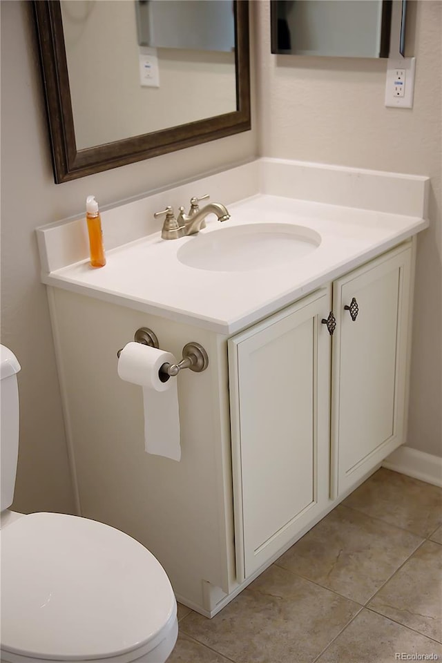
[[[160,379],[164,363],[176,364],[177,360],[170,352],[156,347],[128,343],[119,355],[117,372],[122,380],[143,387],[146,452],[180,461],[177,378],[166,382]]]

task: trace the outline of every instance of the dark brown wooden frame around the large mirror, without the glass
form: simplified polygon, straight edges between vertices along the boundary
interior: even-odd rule
[[[237,110],[77,150],[59,0],[35,0],[35,23],[57,184],[233,135],[251,128],[249,2],[235,0]]]

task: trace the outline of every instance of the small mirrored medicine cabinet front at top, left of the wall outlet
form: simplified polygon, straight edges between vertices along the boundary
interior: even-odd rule
[[[388,57],[392,0],[271,0],[271,52]]]

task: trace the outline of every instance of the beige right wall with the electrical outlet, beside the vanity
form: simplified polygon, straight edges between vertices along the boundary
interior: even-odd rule
[[[431,227],[418,244],[408,444],[442,456],[442,1],[409,5],[411,110],[385,108],[385,60],[271,55],[269,3],[256,1],[260,152],[432,178]]]

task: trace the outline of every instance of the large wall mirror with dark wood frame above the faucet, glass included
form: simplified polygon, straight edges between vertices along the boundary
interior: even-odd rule
[[[223,43],[230,40],[233,50],[203,50],[198,39],[198,49],[195,43],[178,41],[174,48],[153,48],[158,42],[152,38],[164,30],[155,12],[149,14],[151,25],[142,29],[140,17],[150,3],[35,0],[55,182],[251,127],[248,1],[155,2],[155,12],[158,6],[170,12],[179,4],[189,15],[193,6],[200,16],[205,5],[229,7],[231,17],[224,23],[230,32]],[[182,20],[173,21],[177,33]],[[224,23],[213,15],[202,21],[202,30],[213,34],[212,44],[215,28],[219,32]],[[150,35],[150,45],[145,35]],[[153,79],[156,64],[159,76]]]

